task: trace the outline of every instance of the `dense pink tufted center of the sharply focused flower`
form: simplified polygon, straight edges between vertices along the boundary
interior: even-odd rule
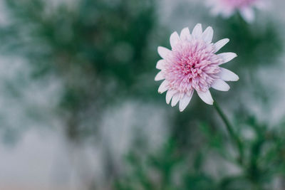
[[[172,48],[163,70],[172,90],[190,93],[205,92],[219,78],[221,58],[214,54],[214,45],[202,40],[180,42]]]

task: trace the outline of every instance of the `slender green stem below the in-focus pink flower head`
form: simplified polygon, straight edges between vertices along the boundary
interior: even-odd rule
[[[242,147],[242,142],[237,136],[237,134],[234,133],[233,127],[229,120],[227,119],[227,116],[224,115],[224,112],[222,112],[221,108],[219,107],[217,101],[214,101],[214,108],[217,110],[217,113],[219,116],[222,118],[224,125],[227,127],[227,131],[229,132],[229,135],[232,137],[233,141],[237,144],[237,148],[239,149],[239,158],[238,162],[239,164],[242,164],[243,162],[243,157],[244,157],[244,150]]]

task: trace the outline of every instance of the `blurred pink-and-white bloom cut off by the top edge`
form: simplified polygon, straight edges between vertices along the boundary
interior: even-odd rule
[[[254,8],[264,8],[265,0],[208,0],[212,7],[212,14],[221,14],[225,18],[239,11],[247,22],[254,21]]]

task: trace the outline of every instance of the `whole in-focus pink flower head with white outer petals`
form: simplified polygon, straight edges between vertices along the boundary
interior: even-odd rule
[[[219,53],[229,39],[225,38],[217,43],[212,43],[213,29],[208,27],[202,32],[202,26],[198,23],[190,34],[188,28],[170,36],[172,50],[158,47],[157,51],[162,60],[157,62],[156,68],[161,71],[155,76],[155,80],[164,80],[159,93],[166,94],[166,102],[172,107],[179,102],[182,112],[189,104],[194,91],[209,105],[212,99],[209,88],[227,91],[229,85],[224,81],[237,81],[239,77],[232,71],[220,68],[219,65],[227,63],[237,56],[236,53]]]

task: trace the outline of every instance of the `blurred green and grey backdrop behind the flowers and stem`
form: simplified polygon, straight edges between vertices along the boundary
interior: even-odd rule
[[[285,2],[212,16],[196,0],[1,0],[0,189],[285,189]],[[214,28],[239,75],[184,112],[154,81],[157,46]]]

